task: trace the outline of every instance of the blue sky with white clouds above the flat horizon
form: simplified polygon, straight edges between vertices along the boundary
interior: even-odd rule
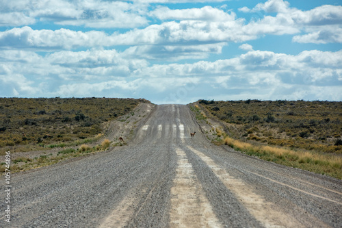
[[[341,1],[0,4],[0,97],[342,100]]]

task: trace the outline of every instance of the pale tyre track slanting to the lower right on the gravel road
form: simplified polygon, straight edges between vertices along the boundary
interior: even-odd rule
[[[246,209],[262,223],[265,227],[303,227],[302,224],[295,220],[292,216],[277,210],[276,205],[252,191],[252,186],[240,179],[236,179],[229,175],[226,170],[215,164],[215,162],[205,155],[197,151],[193,147],[189,147],[203,162],[205,162],[213,173],[224,183],[226,188],[233,192],[237,199],[246,207]]]

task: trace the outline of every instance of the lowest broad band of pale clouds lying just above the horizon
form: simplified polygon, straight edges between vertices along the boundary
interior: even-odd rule
[[[156,99],[161,103],[185,97],[194,101],[205,91],[221,99],[340,99],[342,51],[287,55],[244,47],[250,51],[236,58],[154,65],[114,50],[61,51],[44,57],[32,51],[0,51],[7,63],[0,64],[0,90],[24,97],[91,97],[109,91],[131,97],[154,91],[161,94]]]

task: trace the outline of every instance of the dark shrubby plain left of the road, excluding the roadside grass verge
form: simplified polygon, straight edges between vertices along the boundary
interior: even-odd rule
[[[0,98],[0,155],[98,140],[103,123],[127,114],[144,99]]]

